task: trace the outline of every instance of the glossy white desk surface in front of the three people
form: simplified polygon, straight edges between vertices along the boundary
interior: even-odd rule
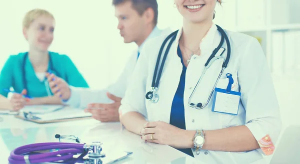
[[[14,116],[0,116],[0,163],[8,164],[10,152],[23,145],[58,142],[55,134],[75,135],[83,142],[100,141],[103,152],[133,152],[118,164],[203,164],[195,161],[169,146],[143,142],[140,136],[132,134],[120,123],[100,123],[93,119],[62,123],[36,124],[17,119]],[[70,142],[70,141],[65,141]],[[263,159],[255,164],[266,164]]]

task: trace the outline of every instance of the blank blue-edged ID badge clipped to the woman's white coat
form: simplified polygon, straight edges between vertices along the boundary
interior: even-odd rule
[[[240,92],[231,91],[233,78],[230,73],[227,73],[226,76],[227,78],[229,78],[227,88],[214,89],[214,101],[212,104],[211,111],[230,115],[237,115],[241,94]]]

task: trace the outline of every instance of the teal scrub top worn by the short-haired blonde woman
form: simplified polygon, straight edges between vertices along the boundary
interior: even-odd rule
[[[48,96],[44,81],[40,81],[34,72],[33,66],[28,58],[28,52],[17,55],[10,55],[0,72],[0,94],[7,97],[7,92],[3,89],[12,87],[15,92],[20,93],[25,89],[23,84],[23,71],[25,69],[25,80],[27,82],[28,96],[45,97]],[[80,74],[74,63],[67,55],[49,52],[49,65],[51,62],[51,72],[62,78],[70,86],[88,88],[87,82]],[[25,58],[25,64],[23,60]]]

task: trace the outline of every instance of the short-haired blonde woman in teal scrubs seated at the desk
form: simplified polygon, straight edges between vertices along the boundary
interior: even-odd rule
[[[53,15],[43,9],[30,10],[23,19],[23,35],[29,50],[10,55],[0,72],[0,95],[7,97],[8,92],[13,93],[10,99],[13,110],[24,105],[61,104],[59,96],[53,96],[48,87],[47,72],[71,86],[88,87],[68,56],[48,51],[54,26]]]

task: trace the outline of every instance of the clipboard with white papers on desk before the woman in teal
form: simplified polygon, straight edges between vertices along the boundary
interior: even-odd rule
[[[61,107],[48,112],[20,111],[16,118],[38,124],[84,120],[91,118],[90,113],[85,113],[81,108]]]

